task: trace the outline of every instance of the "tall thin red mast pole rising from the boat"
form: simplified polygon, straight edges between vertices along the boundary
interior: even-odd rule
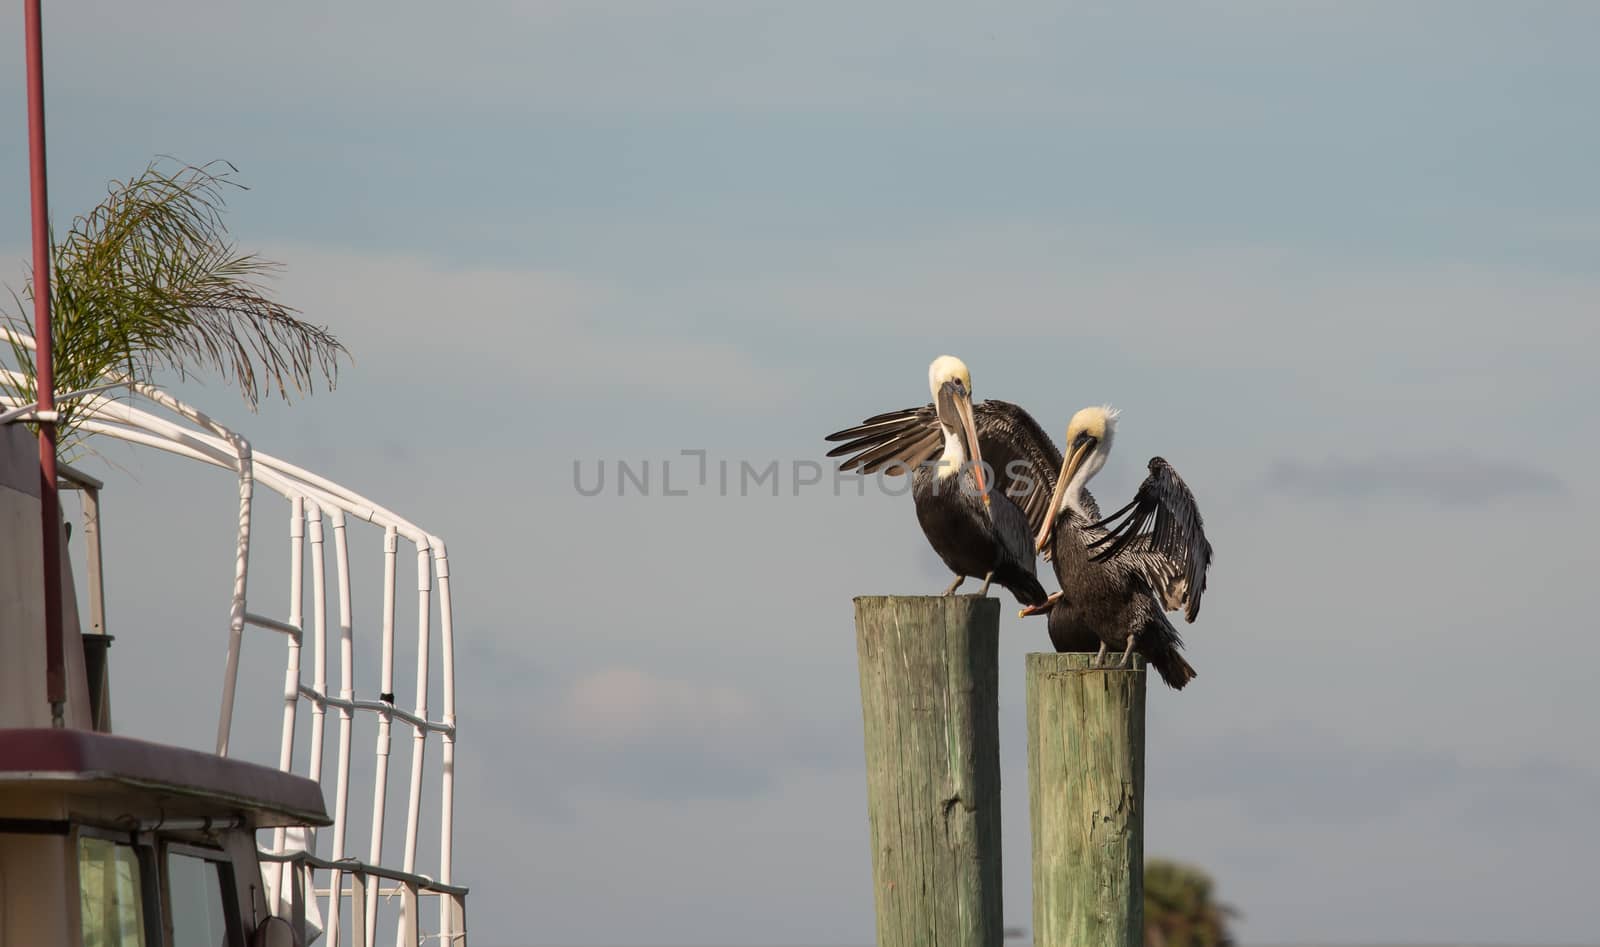
[[[67,670],[61,641],[61,497],[56,493],[56,366],[50,341],[50,208],[45,192],[45,48],[40,0],[22,0],[27,34],[27,163],[34,195],[34,352],[38,381],[38,513],[45,534],[45,688],[51,726],[64,726]]]

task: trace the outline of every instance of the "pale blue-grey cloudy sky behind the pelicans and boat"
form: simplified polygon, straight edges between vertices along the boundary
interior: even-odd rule
[[[1213,870],[1251,942],[1558,944],[1592,939],[1600,841],[1597,27],[1587,3],[86,3],[46,10],[51,198],[59,226],[157,154],[234,162],[235,235],[354,352],[254,418],[182,390],[451,542],[480,942],[870,939],[850,595],[944,585],[910,502],[586,499],[571,467],[816,461],[954,352],[1048,430],[1125,410],[1102,504],[1150,454],[1203,504],[1150,854]],[[19,43],[0,69],[18,285]],[[229,485],[115,459],[110,555],[162,550],[112,574],[120,667],[219,659],[226,573],[211,601],[150,587],[216,573]],[[165,526],[178,501],[210,533]],[[1026,923],[1045,637],[1003,638]],[[205,745],[194,689],[123,685],[118,721]]]

